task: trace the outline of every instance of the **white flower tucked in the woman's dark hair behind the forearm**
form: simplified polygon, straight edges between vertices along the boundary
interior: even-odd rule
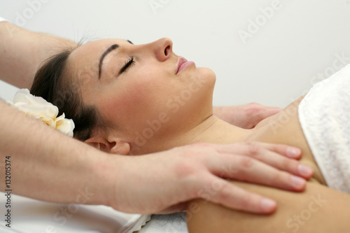
[[[73,120],[66,119],[64,113],[57,118],[57,106],[49,103],[42,97],[34,97],[28,89],[21,89],[16,92],[13,101],[6,101],[18,110],[41,120],[46,125],[57,129],[59,132],[68,136],[73,136],[75,127]]]

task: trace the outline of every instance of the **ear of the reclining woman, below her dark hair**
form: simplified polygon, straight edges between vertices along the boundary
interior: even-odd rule
[[[106,153],[117,155],[127,155],[130,153],[130,143],[118,138],[111,138],[107,141],[101,136],[92,136],[90,139],[85,140],[85,143]]]

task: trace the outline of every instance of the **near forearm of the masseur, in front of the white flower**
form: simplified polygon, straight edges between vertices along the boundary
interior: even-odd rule
[[[119,170],[111,155],[60,134],[2,101],[0,113],[0,191],[8,189],[5,164],[10,163],[6,179],[15,194],[48,202],[110,205],[115,184],[110,174],[113,171],[118,177]]]

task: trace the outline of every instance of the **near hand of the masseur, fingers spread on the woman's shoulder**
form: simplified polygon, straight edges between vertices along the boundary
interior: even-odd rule
[[[274,201],[225,178],[304,190],[304,178],[311,177],[312,171],[288,157],[300,157],[300,150],[267,143],[197,143],[162,153],[124,156],[128,166],[119,171],[123,178],[117,178],[115,199],[109,205],[131,213],[172,213],[185,210],[189,200],[202,198],[231,209],[271,213],[276,209]]]

